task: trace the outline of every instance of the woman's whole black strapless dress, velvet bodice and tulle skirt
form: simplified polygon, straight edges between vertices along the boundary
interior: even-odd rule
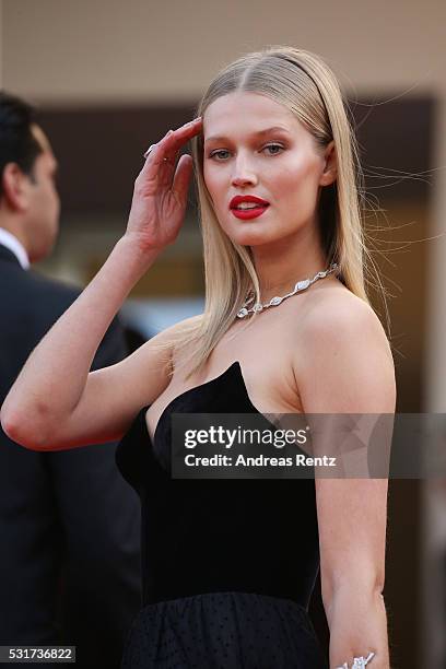
[[[308,617],[315,481],[171,478],[173,413],[259,413],[239,363],[169,402],[153,443],[148,409],[116,453],[142,505],[143,608],[122,669],[327,669]]]

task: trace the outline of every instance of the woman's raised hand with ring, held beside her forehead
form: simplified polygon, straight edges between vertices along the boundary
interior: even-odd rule
[[[198,117],[169,130],[153,146],[134,181],[125,236],[141,250],[160,251],[178,235],[186,212],[192,159],[181,155],[177,165],[176,159],[180,148],[201,129],[202,119]]]

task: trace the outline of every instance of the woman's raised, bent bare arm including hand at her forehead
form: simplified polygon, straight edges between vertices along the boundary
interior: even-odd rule
[[[156,345],[163,333],[116,365],[90,368],[130,290],[177,237],[192,164],[189,155],[176,167],[175,161],[200,130],[196,119],[156,144],[136,180],[125,235],[30,355],[0,414],[4,432],[19,444],[52,449],[118,438],[166,386],[168,360]]]

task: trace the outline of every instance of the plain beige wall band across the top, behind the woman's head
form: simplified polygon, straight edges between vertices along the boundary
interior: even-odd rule
[[[364,91],[446,89],[442,0],[3,0],[4,83],[45,102],[190,99],[268,44],[327,58]]]

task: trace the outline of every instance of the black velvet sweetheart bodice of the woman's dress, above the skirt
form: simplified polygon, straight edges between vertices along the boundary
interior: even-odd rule
[[[256,592],[308,608],[319,568],[314,479],[172,479],[173,413],[259,413],[234,362],[163,411],[153,443],[141,409],[116,460],[142,505],[143,603]]]

